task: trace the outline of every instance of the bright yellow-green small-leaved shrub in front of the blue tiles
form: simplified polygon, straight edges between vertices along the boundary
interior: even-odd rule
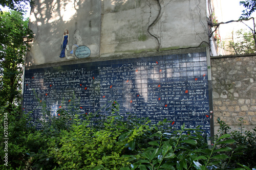
[[[76,115],[72,128],[61,130],[59,141],[51,146],[49,155],[59,164],[58,168],[120,169],[129,165],[128,158],[122,155],[128,146],[135,146],[136,137],[143,134],[146,125],[131,121],[128,125],[118,111],[119,105],[115,103],[110,116],[98,120],[94,114],[84,120]]]

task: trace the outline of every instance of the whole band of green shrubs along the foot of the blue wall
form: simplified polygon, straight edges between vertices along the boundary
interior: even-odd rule
[[[123,118],[119,105],[99,113],[72,116],[60,109],[36,130],[29,115],[13,107],[1,108],[1,130],[8,118],[8,161],[5,139],[0,145],[1,169],[252,169],[255,166],[255,129],[238,131],[220,119],[212,145],[200,127],[169,128],[164,119],[152,125],[148,118]],[[250,151],[250,152],[249,152]]]

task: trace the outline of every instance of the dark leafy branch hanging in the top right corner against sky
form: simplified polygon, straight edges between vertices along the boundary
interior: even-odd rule
[[[248,19],[250,15],[256,10],[256,0],[240,1],[240,5],[245,7],[242,11],[240,19]]]

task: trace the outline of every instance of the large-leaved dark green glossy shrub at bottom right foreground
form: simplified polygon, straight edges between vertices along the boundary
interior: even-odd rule
[[[190,133],[191,131],[193,133]],[[199,128],[186,129],[183,125],[181,130],[174,132],[177,135],[161,131],[153,134],[152,136],[158,136],[159,140],[149,142],[151,147],[139,154],[139,160],[132,156],[134,163],[131,168],[125,169],[217,169],[223,166],[222,160],[229,159],[227,155],[221,153],[231,151],[231,148],[217,149],[217,145],[233,143],[232,139],[220,142],[230,135],[221,136],[208,149],[207,143],[201,143],[204,139]],[[188,135],[183,134],[184,132]],[[227,167],[227,164],[224,166]]]

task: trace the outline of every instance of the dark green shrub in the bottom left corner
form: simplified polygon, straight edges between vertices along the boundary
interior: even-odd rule
[[[36,131],[33,126],[28,124],[29,115],[20,112],[18,106],[12,106],[11,112],[6,112],[6,107],[0,108],[0,129],[4,132],[4,121],[8,122],[7,137],[2,136],[0,144],[0,155],[2,162],[3,156],[8,153],[8,166],[0,165],[0,168],[11,167],[28,168],[30,167],[29,152],[38,152],[40,148],[46,146],[46,138]],[[6,132],[6,131],[5,131]],[[3,133],[4,134],[4,133]],[[6,133],[5,133],[6,134]],[[8,152],[5,152],[4,138],[8,138]]]

